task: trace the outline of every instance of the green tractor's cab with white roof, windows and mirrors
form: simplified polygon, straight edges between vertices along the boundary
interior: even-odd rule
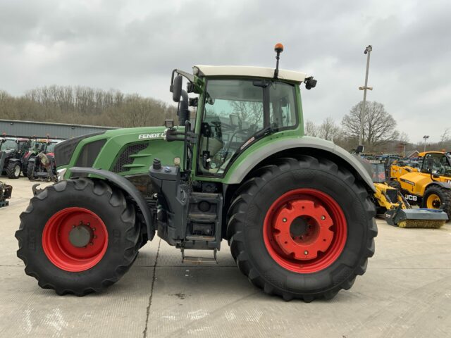
[[[224,177],[240,154],[260,139],[276,132],[302,133],[299,84],[311,89],[316,85],[313,77],[278,68],[210,65],[195,65],[193,74],[173,70],[171,92],[179,103],[180,126],[167,121],[166,140],[196,139],[199,146],[188,144],[185,153],[185,168],[194,176]],[[182,77],[188,80],[186,92]],[[199,97],[188,99],[188,92]],[[188,109],[193,103],[195,125]]]

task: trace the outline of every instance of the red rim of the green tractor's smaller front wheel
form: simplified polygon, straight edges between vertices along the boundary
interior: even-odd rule
[[[70,233],[80,230],[89,234],[85,246],[75,246]],[[99,263],[108,246],[108,232],[98,215],[85,208],[66,208],[47,221],[42,232],[42,248],[51,263],[70,272],[80,272]]]

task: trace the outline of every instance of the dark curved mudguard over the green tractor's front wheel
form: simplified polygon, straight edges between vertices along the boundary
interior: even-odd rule
[[[127,194],[130,195],[130,197],[140,208],[142,215],[144,216],[144,221],[146,222],[147,236],[149,240],[152,240],[154,238],[155,228],[152,224],[152,214],[150,213],[149,207],[147,206],[147,202],[142,194],[138,191],[138,189],[136,189],[136,187],[130,181],[120,175],[117,175],[116,173],[112,173],[111,171],[94,168],[73,167],[70,168],[70,173],[72,173],[72,176],[76,176],[74,174],[96,175],[97,177],[101,177],[101,179],[107,180],[115,184],[117,187],[123,189]]]

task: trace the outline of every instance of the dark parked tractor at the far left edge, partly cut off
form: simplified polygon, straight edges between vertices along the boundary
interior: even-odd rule
[[[22,158],[30,146],[30,140],[5,137],[0,139],[0,144],[0,174],[19,178]]]

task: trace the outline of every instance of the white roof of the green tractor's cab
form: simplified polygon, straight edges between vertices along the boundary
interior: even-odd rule
[[[194,65],[193,73],[197,76],[249,76],[249,77],[274,77],[274,68],[250,67],[244,65]],[[278,78],[303,82],[307,74],[294,70],[279,69]]]

